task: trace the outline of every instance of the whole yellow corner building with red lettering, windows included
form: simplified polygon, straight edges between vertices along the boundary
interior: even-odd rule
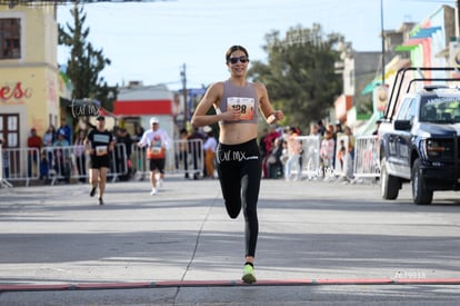
[[[56,4],[0,6],[0,137],[27,147],[30,129],[58,125],[61,76]]]

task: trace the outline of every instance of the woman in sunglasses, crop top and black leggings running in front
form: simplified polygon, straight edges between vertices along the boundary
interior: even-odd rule
[[[254,256],[259,235],[257,203],[262,162],[258,147],[259,109],[267,124],[282,120],[282,110],[274,110],[267,88],[247,81],[248,51],[232,46],[226,53],[230,78],[212,83],[197,106],[191,119],[193,127],[219,122],[217,170],[227,213],[234,219],[242,208],[244,215],[246,257],[242,280],[254,283]],[[208,115],[213,107],[216,115]]]

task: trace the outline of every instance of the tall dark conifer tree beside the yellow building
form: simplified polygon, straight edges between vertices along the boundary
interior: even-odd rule
[[[87,41],[90,29],[83,27],[87,19],[83,7],[76,1],[70,12],[73,17],[73,26],[66,23],[64,29],[59,24],[59,45],[70,47],[66,73],[74,88],[72,98],[96,99],[102,107],[112,110],[118,89],[109,87],[99,76],[106,66],[110,65],[110,59],[104,58],[102,49],[97,50]]]

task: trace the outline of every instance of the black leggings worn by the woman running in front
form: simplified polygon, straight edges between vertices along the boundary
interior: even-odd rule
[[[227,213],[234,219],[243,208],[246,256],[253,257],[259,235],[257,201],[262,175],[257,140],[232,146],[219,144],[216,159]]]

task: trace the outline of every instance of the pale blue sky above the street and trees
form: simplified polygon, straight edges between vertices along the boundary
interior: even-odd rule
[[[356,51],[380,51],[380,33],[402,22],[422,22],[456,0],[172,0],[84,4],[88,41],[111,60],[101,77],[109,86],[129,81],[164,83],[171,90],[200,88],[224,80],[224,53],[233,45],[251,60],[267,60],[262,46],[272,30],[284,38],[289,28],[341,33]],[[71,4],[58,7],[58,22],[72,24]],[[382,8],[382,9],[381,9]],[[383,20],[381,19],[383,16]],[[383,22],[382,22],[383,21]],[[58,48],[58,62],[69,49]]]

